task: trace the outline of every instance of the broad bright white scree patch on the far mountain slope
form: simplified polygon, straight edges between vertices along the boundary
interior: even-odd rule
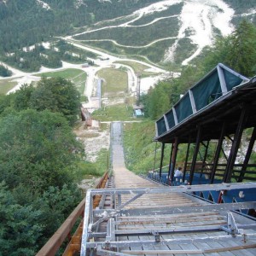
[[[183,65],[188,65],[201,53],[201,50],[212,44],[214,38],[213,30],[218,29],[223,36],[229,35],[234,30],[230,21],[235,13],[233,9],[222,0],[186,0],[183,1],[183,9],[180,15],[182,24],[177,40],[166,51],[165,61],[173,61],[178,41],[186,37],[186,32],[190,32],[191,43],[195,44],[197,49],[188,59],[183,61]]]

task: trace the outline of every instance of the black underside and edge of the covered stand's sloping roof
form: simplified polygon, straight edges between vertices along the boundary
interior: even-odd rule
[[[241,109],[246,108],[246,106],[248,117],[244,128],[249,128],[256,125],[256,77],[234,87],[171,129],[168,130],[167,127],[167,131],[160,135],[157,134],[154,141],[174,143],[178,137],[179,143],[193,143],[199,125],[202,128],[202,141],[218,139],[224,122],[226,124],[225,136],[234,134],[241,116]]]

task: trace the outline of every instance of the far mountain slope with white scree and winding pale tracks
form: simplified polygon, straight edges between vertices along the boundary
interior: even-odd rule
[[[118,55],[134,55],[160,65],[186,65],[202,49],[212,44],[217,35],[227,36],[236,21],[247,15],[253,20],[255,11],[251,9],[256,1],[236,5],[239,14],[222,0],[166,0],[152,3],[138,9],[121,20],[101,22],[76,33],[73,38]],[[250,10],[250,15],[241,13]],[[128,20],[128,21],[127,21]]]

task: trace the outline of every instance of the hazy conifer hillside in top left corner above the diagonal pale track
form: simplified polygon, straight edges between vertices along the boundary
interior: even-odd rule
[[[45,8],[40,2],[47,3],[49,8]],[[154,2],[157,1],[0,1],[0,53],[13,52],[55,36],[66,35],[74,27],[128,15]]]

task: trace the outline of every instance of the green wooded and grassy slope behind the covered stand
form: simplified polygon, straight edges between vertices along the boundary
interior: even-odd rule
[[[160,163],[160,143],[152,142],[155,120],[176,104],[180,96],[200,81],[213,67],[221,62],[248,78],[256,75],[256,27],[243,20],[236,31],[225,38],[216,38],[215,44],[206,49],[195,60],[195,65],[183,67],[181,76],[160,81],[143,95],[145,116],[149,119],[137,124],[125,124],[125,160],[134,172],[148,172],[154,169],[154,161]],[[250,131],[249,131],[250,133]],[[177,161],[185,160],[186,148],[179,145]],[[171,148],[166,147],[166,155]],[[156,152],[156,155],[154,155]],[[255,153],[252,154],[255,161]],[[165,159],[164,166],[169,165]],[[158,167],[158,166],[157,166]]]

